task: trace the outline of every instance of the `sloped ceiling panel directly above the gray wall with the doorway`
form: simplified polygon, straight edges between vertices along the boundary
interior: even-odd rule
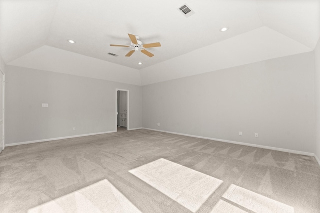
[[[138,70],[43,45],[7,65],[141,85]]]

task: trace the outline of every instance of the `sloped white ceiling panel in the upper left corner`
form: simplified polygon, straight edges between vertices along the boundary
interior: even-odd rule
[[[58,1],[0,1],[0,53],[6,64],[45,45]]]

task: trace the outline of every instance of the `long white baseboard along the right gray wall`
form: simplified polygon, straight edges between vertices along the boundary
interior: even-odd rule
[[[269,149],[269,150],[275,150],[275,151],[281,151],[281,152],[288,152],[288,153],[294,153],[294,154],[299,154],[299,155],[307,155],[307,156],[314,156],[314,153],[310,152],[302,152],[302,151],[296,151],[296,150],[289,150],[289,149],[282,149],[282,148],[277,148],[277,147],[268,147],[268,146],[262,146],[262,145],[257,145],[257,144],[248,144],[248,143],[243,143],[243,142],[238,142],[238,141],[229,141],[229,140],[223,140],[223,139],[218,139],[218,138],[209,138],[209,137],[202,137],[202,136],[197,136],[197,135],[188,135],[188,134],[183,134],[183,133],[178,133],[178,132],[169,132],[169,131],[164,131],[164,130],[158,130],[158,129],[150,129],[150,128],[143,128],[142,129],[147,129],[147,130],[153,130],[153,131],[158,131],[158,132],[165,132],[165,133],[171,133],[175,135],[183,135],[183,136],[188,136],[188,137],[193,137],[193,138],[201,138],[201,139],[208,139],[208,140],[213,140],[213,141],[220,141],[220,142],[226,142],[226,143],[231,143],[231,144],[238,144],[238,145],[244,145],[244,146],[250,146],[250,147],[257,147],[257,148],[263,148],[263,149]],[[319,162],[319,160],[317,159]],[[320,165],[320,163],[319,163]]]

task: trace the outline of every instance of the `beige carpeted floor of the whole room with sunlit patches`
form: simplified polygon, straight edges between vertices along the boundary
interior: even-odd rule
[[[121,212],[124,202],[142,213],[319,213],[320,167],[310,156],[143,129],[0,154],[0,212],[41,212],[50,202],[74,212],[74,198],[82,212],[104,198],[95,212]]]

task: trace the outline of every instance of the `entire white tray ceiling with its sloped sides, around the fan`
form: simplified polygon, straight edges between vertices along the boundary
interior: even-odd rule
[[[109,44],[127,33],[161,47],[125,57]],[[319,37],[320,0],[0,0],[6,64],[137,85],[312,51]]]

